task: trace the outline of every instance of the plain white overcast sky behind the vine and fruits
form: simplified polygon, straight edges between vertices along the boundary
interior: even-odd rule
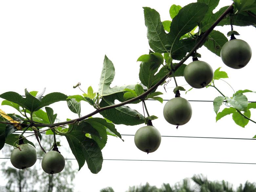
[[[61,92],[67,95],[81,94],[73,85],[81,82],[81,88],[87,90],[91,85],[97,90],[104,55],[115,65],[116,76],[112,86],[135,84],[139,82],[139,62],[137,58],[147,54],[149,45],[142,7],[156,9],[161,21],[169,20],[169,8],[172,4],[184,6],[195,1],[1,1],[0,2],[0,63],[1,93],[15,91],[24,94],[29,91],[42,90],[46,94]],[[231,1],[221,1],[221,6]],[[217,28],[226,34],[230,27]],[[235,27],[252,48],[252,59],[240,70],[226,67],[218,56],[205,48],[198,52],[202,59],[215,70],[222,67],[229,75],[227,82],[234,90],[250,89],[255,91],[255,53],[256,45],[253,27]],[[188,64],[191,59],[187,61]],[[177,79],[179,85],[186,84],[183,77]],[[223,81],[216,85],[227,96],[232,89]],[[174,87],[174,82],[168,87]],[[189,89],[189,86],[184,86]],[[164,92],[163,88],[159,88]],[[163,95],[164,99],[174,97],[173,88]],[[186,99],[213,100],[219,96],[213,88],[197,89],[187,95]],[[246,94],[248,100],[254,101],[254,94]],[[2,100],[1,100],[2,101]],[[252,138],[256,134],[255,124],[249,122],[246,128],[237,126],[231,116],[226,116],[215,123],[212,103],[191,102],[193,115],[191,120],[176,130],[162,116],[163,105],[158,101],[147,101],[150,114],[159,119],[153,124],[161,135],[196,136],[196,137],[230,137]],[[141,104],[131,105],[142,113]],[[69,111],[65,102],[51,105],[58,118],[76,118]],[[1,109],[13,113],[11,107]],[[82,115],[94,110],[87,103],[82,103]],[[256,113],[251,110],[251,118]],[[99,115],[96,115],[96,117]],[[141,127],[117,125],[121,134],[135,134]],[[144,160],[192,160],[255,163],[254,144],[252,140],[224,139],[186,139],[162,138],[160,148],[146,154],[136,148],[133,137],[123,136],[125,142],[109,137],[102,150],[104,159],[144,159]],[[65,145],[65,139],[63,144]],[[61,149],[60,149],[61,150]],[[74,158],[66,153],[66,158]],[[74,160],[74,168],[78,168]],[[163,183],[174,184],[194,174],[204,174],[209,180],[226,180],[235,186],[246,180],[255,181],[256,165],[185,163],[185,162],[139,162],[139,161],[104,161],[102,170],[92,174],[85,165],[75,178],[75,191],[97,192],[101,188],[112,186],[115,191],[128,189],[129,185],[145,184],[158,187]],[[2,182],[2,181],[1,181]],[[0,183],[3,185],[3,183]],[[86,190],[85,190],[86,189]]]

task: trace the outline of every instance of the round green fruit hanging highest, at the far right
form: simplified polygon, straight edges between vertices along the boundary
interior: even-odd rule
[[[233,39],[224,44],[221,49],[223,63],[233,69],[241,69],[251,59],[251,48],[247,42],[241,39]]]

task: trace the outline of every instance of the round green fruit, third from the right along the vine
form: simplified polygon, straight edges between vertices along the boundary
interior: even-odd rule
[[[172,125],[184,125],[192,116],[192,108],[187,99],[175,97],[163,107],[163,117]]]

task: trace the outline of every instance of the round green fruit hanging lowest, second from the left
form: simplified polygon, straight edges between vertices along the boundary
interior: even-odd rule
[[[64,157],[57,151],[49,151],[42,160],[42,168],[44,172],[49,174],[59,173],[65,167]]]

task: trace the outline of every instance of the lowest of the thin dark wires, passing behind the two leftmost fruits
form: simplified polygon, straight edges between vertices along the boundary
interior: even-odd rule
[[[0,159],[10,159],[10,158],[0,158]],[[37,158],[42,160],[43,158]],[[76,160],[74,158],[67,158],[65,160]],[[180,160],[141,160],[141,159],[103,159],[111,161],[153,161],[153,162],[188,162],[188,163],[223,163],[223,164],[251,164],[255,165],[256,163],[243,163],[243,162],[221,162],[221,161],[180,161]]]

